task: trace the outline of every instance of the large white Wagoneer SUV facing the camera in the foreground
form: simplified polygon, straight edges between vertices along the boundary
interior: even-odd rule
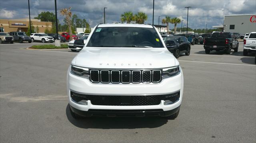
[[[67,74],[70,113],[178,116],[183,73],[152,25],[100,24]]]

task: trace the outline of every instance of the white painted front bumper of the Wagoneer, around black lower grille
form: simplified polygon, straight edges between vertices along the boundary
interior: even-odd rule
[[[88,95],[119,95],[119,96],[136,96],[136,95],[166,95],[180,91],[180,98],[172,104],[164,104],[161,100],[158,105],[146,106],[108,106],[108,105],[94,105],[90,100],[87,100],[86,105],[79,104],[72,100],[70,91],[75,91],[81,94]],[[70,73],[70,67],[67,74],[67,92],[68,101],[70,106],[81,111],[94,110],[161,110],[170,111],[178,108],[182,102],[183,96],[183,73],[182,69],[180,74],[162,79],[160,83],[139,83],[139,84],[103,84],[92,83],[88,78],[82,78]]]

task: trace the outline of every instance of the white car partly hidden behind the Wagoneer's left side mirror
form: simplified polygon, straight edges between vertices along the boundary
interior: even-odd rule
[[[72,41],[68,42],[68,49],[70,49],[73,52],[76,50],[83,49],[84,44],[88,37],[89,36],[87,35],[87,36],[80,37],[79,39],[72,40]]]

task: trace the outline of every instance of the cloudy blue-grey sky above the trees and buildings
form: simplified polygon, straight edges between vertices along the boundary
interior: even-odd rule
[[[80,19],[86,19],[90,27],[103,22],[104,7],[106,23],[121,22],[120,15],[131,11],[134,14],[144,12],[148,15],[145,24],[152,24],[153,0],[57,0],[57,10],[71,7],[72,14]],[[225,15],[256,14],[256,0],[154,0],[154,24],[160,24],[165,16],[178,17],[186,26],[187,9],[188,27],[192,29],[207,28],[222,25]],[[30,15],[34,18],[40,12],[54,12],[54,0],[30,0]],[[64,17],[57,14],[61,24]],[[0,19],[28,18],[28,0],[0,0]],[[170,29],[174,28],[169,24]],[[181,23],[178,24],[181,27]]]

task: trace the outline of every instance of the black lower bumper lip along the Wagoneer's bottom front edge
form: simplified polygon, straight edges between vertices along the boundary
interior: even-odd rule
[[[85,117],[90,116],[108,116],[108,117],[116,117],[116,116],[135,116],[135,117],[144,117],[144,116],[170,116],[175,114],[180,109],[180,106],[174,108],[169,111],[163,111],[162,109],[153,109],[153,110],[95,110],[89,109],[88,111],[78,110],[72,106],[70,106],[72,112]]]

